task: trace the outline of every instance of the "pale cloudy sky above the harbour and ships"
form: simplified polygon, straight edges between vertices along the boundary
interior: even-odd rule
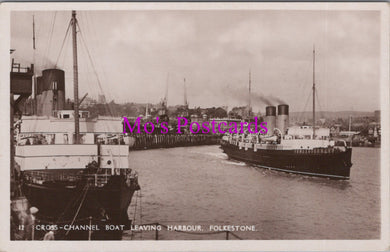
[[[65,70],[73,99],[70,32],[64,40],[70,18],[12,12],[11,57],[35,62],[37,75]],[[77,19],[80,97],[157,103],[168,83],[168,105],[179,105],[185,78],[190,108],[232,108],[247,104],[250,72],[254,111],[280,103],[310,110],[315,45],[317,109],[380,108],[378,11],[79,11]]]

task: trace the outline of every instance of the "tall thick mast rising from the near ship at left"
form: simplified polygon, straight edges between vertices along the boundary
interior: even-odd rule
[[[80,125],[79,125],[79,90],[78,90],[78,68],[77,68],[77,19],[76,11],[72,11],[72,41],[73,41],[73,91],[74,91],[74,131],[75,144],[79,143]]]

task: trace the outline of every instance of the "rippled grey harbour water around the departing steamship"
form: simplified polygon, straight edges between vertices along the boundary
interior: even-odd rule
[[[255,225],[243,239],[380,238],[380,149],[354,148],[349,181],[266,170],[228,160],[219,146],[132,151],[142,190],[129,212],[135,225]],[[126,232],[123,239],[154,239]],[[163,240],[225,239],[159,232]]]

